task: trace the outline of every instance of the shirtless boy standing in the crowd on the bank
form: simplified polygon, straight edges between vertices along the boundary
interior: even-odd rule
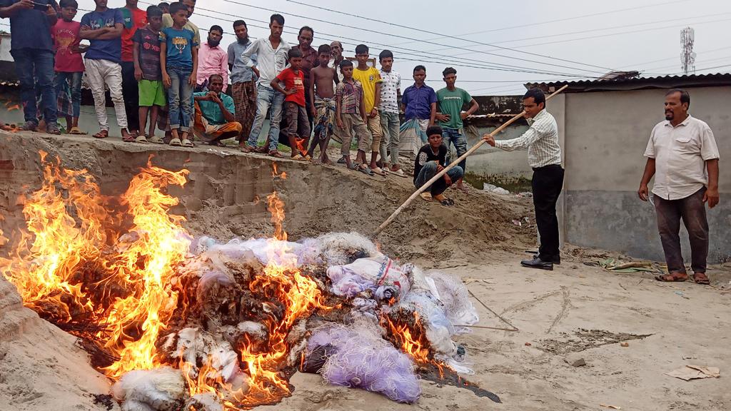
[[[327,157],[327,144],[333,135],[335,120],[335,84],[339,82],[336,69],[329,67],[331,50],[329,45],[321,45],[317,49],[319,66],[310,70],[310,107],[314,118],[314,137],[307,154],[314,157],[315,147],[319,145],[320,155],[317,164],[332,165]]]

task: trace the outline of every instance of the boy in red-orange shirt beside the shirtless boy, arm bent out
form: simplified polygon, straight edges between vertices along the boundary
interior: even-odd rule
[[[291,48],[287,53],[289,67],[282,70],[271,82],[272,88],[284,94],[284,116],[287,118],[287,129],[283,131],[289,137],[292,148],[292,159],[310,159],[306,151],[306,141],[310,135],[310,124],[305,108],[305,75],[300,69],[302,52],[299,48]],[[282,88],[281,83],[284,83]]]

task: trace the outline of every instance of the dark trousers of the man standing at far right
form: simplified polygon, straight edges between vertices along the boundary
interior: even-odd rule
[[[680,200],[664,200],[653,195],[657,211],[657,228],[662,250],[665,253],[667,271],[670,274],[686,274],[681,252],[681,219],[688,230],[691,268],[694,273],[705,273],[708,260],[708,219],[705,217],[703,195],[705,187]]]

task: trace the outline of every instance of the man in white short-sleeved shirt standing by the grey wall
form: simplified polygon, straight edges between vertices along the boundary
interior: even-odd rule
[[[668,275],[656,276],[664,282],[688,279],[678,232],[683,219],[688,230],[693,280],[708,284],[708,220],[705,205],[719,203],[719,148],[708,124],[688,114],[690,95],[673,89],[665,94],[665,120],[650,135],[645,157],[645,173],[637,194],[649,200],[648,184],[655,177],[652,195],[657,227],[665,254]]]

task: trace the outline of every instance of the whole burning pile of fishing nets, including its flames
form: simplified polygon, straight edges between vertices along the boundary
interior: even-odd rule
[[[452,337],[478,317],[458,279],[355,233],[287,241],[276,192],[275,238],[193,238],[165,190],[186,170],[148,165],[112,198],[58,163],[23,199],[26,228],[0,274],[79,338],[122,410],[275,404],[298,371],[412,403],[418,370],[471,373]]]

